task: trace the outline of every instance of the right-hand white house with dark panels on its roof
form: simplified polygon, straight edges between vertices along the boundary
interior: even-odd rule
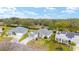
[[[55,39],[61,43],[69,44],[69,42],[75,42],[79,46],[79,32],[58,32]]]

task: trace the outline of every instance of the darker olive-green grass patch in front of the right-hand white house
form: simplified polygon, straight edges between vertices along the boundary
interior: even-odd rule
[[[71,51],[72,50],[65,44],[53,42],[53,41],[49,41],[49,43],[47,43],[47,46],[49,51]]]

